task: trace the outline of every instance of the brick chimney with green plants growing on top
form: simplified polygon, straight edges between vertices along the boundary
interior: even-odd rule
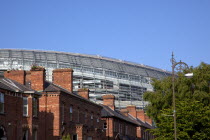
[[[45,69],[37,66],[37,68],[32,68],[30,72],[31,74],[27,73],[26,80],[31,79],[31,88],[36,91],[43,91],[45,83]]]

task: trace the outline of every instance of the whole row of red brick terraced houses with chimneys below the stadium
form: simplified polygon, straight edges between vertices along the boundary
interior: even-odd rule
[[[89,100],[89,89],[73,92],[72,69],[53,70],[52,81],[45,74],[40,66],[4,72],[0,81],[1,139],[152,139],[145,131],[152,128],[150,119],[144,113],[133,114],[138,111],[132,106],[116,110],[114,95],[103,95],[103,104],[96,104]]]

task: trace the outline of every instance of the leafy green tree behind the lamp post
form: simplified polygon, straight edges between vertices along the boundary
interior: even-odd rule
[[[192,78],[184,73],[193,72]],[[172,111],[172,79],[153,80],[154,92],[144,94],[149,101],[147,115],[157,128],[152,130],[159,140],[174,139]],[[177,138],[205,140],[210,138],[210,65],[201,63],[178,73],[175,80]]]

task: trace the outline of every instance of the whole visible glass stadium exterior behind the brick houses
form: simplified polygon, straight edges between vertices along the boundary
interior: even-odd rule
[[[151,78],[161,79],[170,72],[132,62],[74,53],[0,49],[0,70],[29,70],[36,64],[46,68],[46,79],[52,81],[52,70],[72,68],[73,88],[90,89],[90,99],[101,103],[101,96],[114,94],[116,107],[129,104],[143,108],[143,93],[152,91]]]

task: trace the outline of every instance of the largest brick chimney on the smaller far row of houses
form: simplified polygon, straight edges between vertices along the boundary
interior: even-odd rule
[[[110,107],[111,109],[115,110],[115,96],[111,94],[106,94],[102,96],[103,104]]]

